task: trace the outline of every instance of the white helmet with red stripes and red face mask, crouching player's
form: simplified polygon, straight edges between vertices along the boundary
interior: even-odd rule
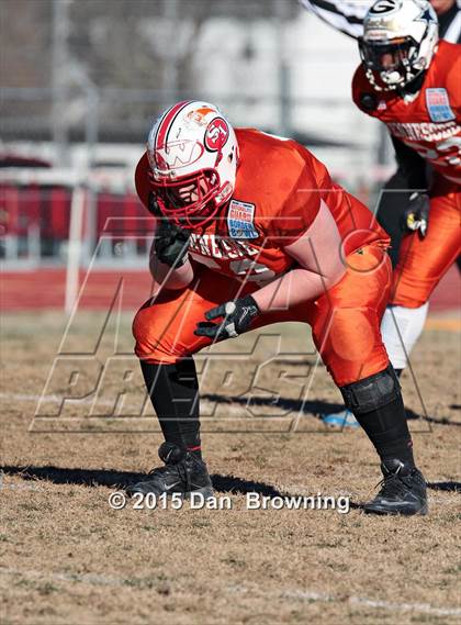
[[[206,224],[232,197],[238,165],[234,129],[214,104],[178,102],[147,139],[161,213],[184,228]]]

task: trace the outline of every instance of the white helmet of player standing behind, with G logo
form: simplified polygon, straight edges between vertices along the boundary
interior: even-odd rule
[[[376,91],[408,85],[429,67],[438,38],[437,14],[427,0],[374,2],[359,38],[371,85]]]

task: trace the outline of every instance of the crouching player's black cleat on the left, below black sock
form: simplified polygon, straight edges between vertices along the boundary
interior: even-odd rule
[[[190,496],[191,492],[201,493],[205,499],[213,496],[213,486],[205,462],[190,451],[172,443],[162,443],[158,449],[165,467],[154,469],[146,480],[130,486],[126,492],[157,496],[167,493]]]

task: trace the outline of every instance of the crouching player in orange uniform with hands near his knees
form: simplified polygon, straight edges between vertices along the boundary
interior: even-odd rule
[[[179,102],[153,127],[136,187],[157,216],[154,297],[133,324],[135,351],[165,435],[165,466],[131,493],[212,484],[201,456],[192,355],[281,321],[312,326],[384,480],[368,512],[424,514],[398,380],[381,339],[389,237],[307,149],[236,130],[206,102]]]

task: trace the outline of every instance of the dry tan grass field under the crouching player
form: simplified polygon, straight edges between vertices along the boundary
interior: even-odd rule
[[[199,359],[205,456],[232,510],[128,503],[115,511],[109,495],[157,464],[160,443],[130,356],[130,316],[122,314],[119,332],[110,321],[98,341],[101,313],[83,313],[61,344],[60,313],[4,315],[1,623],[460,621],[461,334],[453,317],[429,319],[413,357],[417,384],[408,372],[403,379],[406,404],[421,413],[419,389],[429,416],[411,424],[430,513],[381,518],[360,509],[380,479],[371,445],[361,431],[328,431],[316,416],[340,395],[317,366],[308,328],[269,327],[258,341],[250,334]],[[59,350],[60,372],[36,414]],[[70,394],[86,398],[59,412],[69,377]],[[347,494],[352,507],[249,511],[252,491]]]

